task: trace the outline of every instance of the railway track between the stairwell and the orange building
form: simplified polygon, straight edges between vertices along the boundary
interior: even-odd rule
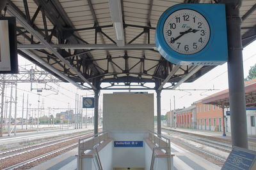
[[[204,157],[218,166],[223,166],[227,155],[231,151],[231,145],[220,141],[213,141],[207,138],[183,134],[181,132],[171,132],[164,129],[164,134],[167,138],[171,139],[172,143],[182,146],[186,150]]]

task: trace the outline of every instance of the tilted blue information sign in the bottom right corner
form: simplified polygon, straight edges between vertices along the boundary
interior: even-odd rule
[[[256,152],[252,150],[234,147],[221,170],[252,169],[253,164],[255,164],[255,157]]]

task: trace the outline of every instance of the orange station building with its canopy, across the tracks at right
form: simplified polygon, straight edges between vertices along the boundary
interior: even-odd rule
[[[244,92],[248,134],[256,135],[256,78],[245,82]],[[228,89],[226,89],[196,101],[188,108],[176,111],[177,127],[223,131],[223,126],[225,125],[225,132],[231,132],[230,115],[232,113],[228,108],[228,97]],[[173,115],[170,117],[170,122],[174,122],[173,117]]]

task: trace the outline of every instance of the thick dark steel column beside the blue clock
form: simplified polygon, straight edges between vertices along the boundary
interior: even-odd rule
[[[232,145],[248,148],[246,124],[243,53],[241,41],[241,0],[223,0],[227,10],[228,88],[231,114]]]

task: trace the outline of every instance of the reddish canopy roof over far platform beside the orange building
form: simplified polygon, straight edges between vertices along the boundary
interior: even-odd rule
[[[250,81],[246,81],[244,85],[246,107],[256,107],[256,78]],[[211,96],[202,99],[204,104],[214,104],[218,106],[229,106],[229,92],[223,90]]]

